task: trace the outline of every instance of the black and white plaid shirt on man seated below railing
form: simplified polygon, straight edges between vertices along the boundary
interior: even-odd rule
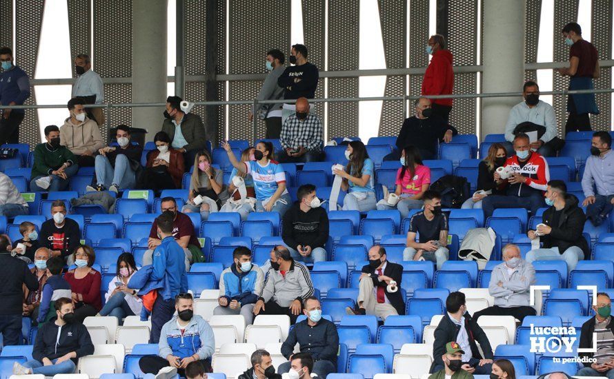
[[[286,119],[284,127],[281,128],[279,138],[284,149],[296,149],[300,146],[305,147],[311,152],[322,150],[322,123],[315,114],[308,114],[307,119],[299,121],[296,114]]]

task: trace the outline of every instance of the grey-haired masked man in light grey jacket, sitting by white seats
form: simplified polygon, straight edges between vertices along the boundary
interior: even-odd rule
[[[475,312],[473,318],[514,316],[522,323],[526,316],[535,316],[535,308],[529,303],[535,268],[522,259],[517,245],[508,243],[502,252],[504,263],[495,266],[488,283],[488,294],[495,298],[495,305]]]

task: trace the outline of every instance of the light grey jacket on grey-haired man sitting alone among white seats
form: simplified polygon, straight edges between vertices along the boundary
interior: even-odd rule
[[[499,287],[498,283],[502,285]],[[535,284],[535,268],[521,260],[512,276],[508,276],[505,263],[495,266],[488,283],[488,293],[495,298],[495,305],[503,308],[529,306],[530,286]]]

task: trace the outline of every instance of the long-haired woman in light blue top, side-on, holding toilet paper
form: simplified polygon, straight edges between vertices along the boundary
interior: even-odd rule
[[[341,189],[348,191],[344,198],[344,211],[370,211],[376,208],[375,190],[373,189],[373,161],[367,154],[361,141],[351,141],[346,149],[348,165],[345,170],[333,170],[341,176]]]

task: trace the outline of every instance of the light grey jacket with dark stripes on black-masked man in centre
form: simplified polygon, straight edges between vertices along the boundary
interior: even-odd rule
[[[279,307],[289,307],[294,300],[302,303],[309,296],[313,296],[309,270],[296,260],[292,260],[285,278],[278,270],[268,269],[268,276],[260,291],[260,300],[267,303],[273,299]]]

